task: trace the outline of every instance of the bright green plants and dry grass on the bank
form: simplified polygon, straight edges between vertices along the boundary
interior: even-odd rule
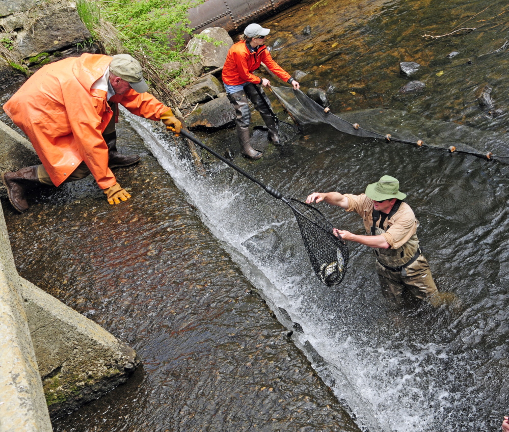
[[[191,34],[187,9],[203,0],[78,0],[79,16],[108,55],[129,53],[144,67],[155,95],[172,101],[171,90],[187,84],[185,36]],[[165,63],[182,67],[169,73]],[[173,100],[174,101],[174,100]]]

